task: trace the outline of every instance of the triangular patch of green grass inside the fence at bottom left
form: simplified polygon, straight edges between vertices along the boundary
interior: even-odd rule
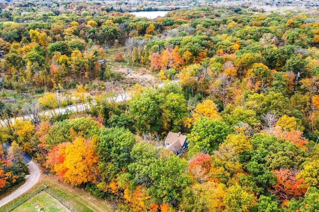
[[[41,192],[14,209],[12,212],[70,212],[58,200]]]

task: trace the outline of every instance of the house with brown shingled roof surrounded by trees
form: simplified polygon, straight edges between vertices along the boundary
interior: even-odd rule
[[[188,147],[187,137],[181,133],[169,132],[165,139],[165,148],[180,155]]]

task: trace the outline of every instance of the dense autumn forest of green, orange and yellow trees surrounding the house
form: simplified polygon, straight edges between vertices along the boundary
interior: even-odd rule
[[[319,209],[319,16],[200,7],[150,20],[87,4],[1,11],[1,192],[23,181],[26,151],[118,211]],[[164,83],[128,83],[114,64]],[[114,100],[114,82],[130,98]],[[187,135],[182,155],[158,145],[168,132]]]

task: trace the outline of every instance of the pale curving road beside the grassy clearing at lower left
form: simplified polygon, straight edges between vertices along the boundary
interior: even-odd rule
[[[32,188],[38,182],[40,175],[41,175],[41,172],[40,172],[38,165],[35,162],[33,162],[33,160],[31,160],[27,164],[28,164],[28,169],[29,169],[30,175],[27,177],[25,183],[22,186],[20,186],[17,190],[15,190],[11,194],[9,194],[8,196],[2,198],[0,200],[0,207],[4,206],[8,202],[19,197],[24,192],[26,192],[27,190]]]

